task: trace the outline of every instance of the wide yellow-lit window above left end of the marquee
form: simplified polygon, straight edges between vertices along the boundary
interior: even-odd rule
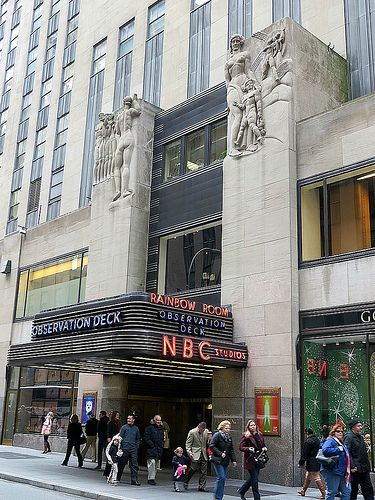
[[[88,256],[80,253],[21,271],[16,318],[85,300]]]

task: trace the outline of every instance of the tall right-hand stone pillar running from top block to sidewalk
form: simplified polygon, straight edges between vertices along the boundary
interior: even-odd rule
[[[262,51],[283,30],[278,79]],[[290,19],[254,34],[243,50],[262,85],[266,134],[224,160],[222,303],[233,305],[235,341],[249,349],[246,418],[255,417],[255,387],[281,387],[281,436],[266,437],[271,458],[262,481],[291,485],[300,480],[296,123],[345,99],[345,61]],[[242,390],[234,387],[229,413],[240,409]]]

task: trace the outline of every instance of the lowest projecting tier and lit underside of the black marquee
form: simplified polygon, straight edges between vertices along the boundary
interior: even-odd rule
[[[214,370],[226,367],[244,367],[246,362],[230,358],[215,358],[215,352],[244,352],[246,347],[233,343],[215,342],[211,339],[201,360],[197,346],[202,339],[192,339],[194,355],[181,355],[183,337],[176,339],[176,356],[163,356],[163,339],[150,332],[112,332],[105,335],[83,334],[64,338],[35,340],[27,344],[12,345],[8,352],[10,366],[29,366],[73,370],[81,373],[103,375],[129,374],[178,379],[211,379]]]

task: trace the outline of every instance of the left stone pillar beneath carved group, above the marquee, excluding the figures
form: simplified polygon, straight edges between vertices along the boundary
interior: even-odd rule
[[[133,119],[135,147],[130,163],[131,196],[113,200],[113,176],[94,185],[86,300],[144,291],[154,116],[157,108],[140,101]],[[105,256],[105,258],[103,258]]]

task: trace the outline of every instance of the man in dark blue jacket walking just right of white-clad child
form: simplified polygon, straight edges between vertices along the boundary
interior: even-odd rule
[[[140,486],[138,481],[138,450],[141,442],[141,434],[135,425],[134,415],[128,415],[126,424],[120,429],[122,457],[118,461],[117,479],[120,481],[125,465],[129,462],[130,484]]]

